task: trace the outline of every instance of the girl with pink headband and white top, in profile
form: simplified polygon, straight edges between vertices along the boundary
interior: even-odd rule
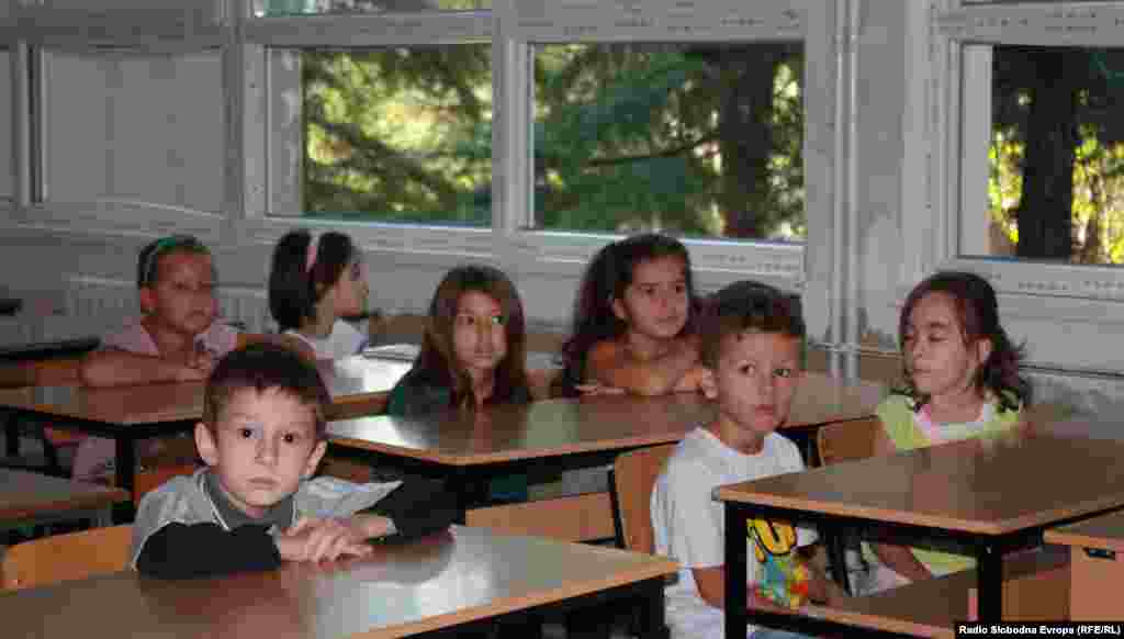
[[[366,336],[341,320],[366,309],[359,249],[343,233],[291,231],[278,241],[270,271],[270,313],[280,330],[308,343],[317,359],[353,356]]]

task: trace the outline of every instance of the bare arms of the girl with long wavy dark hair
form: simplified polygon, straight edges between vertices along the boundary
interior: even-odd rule
[[[641,361],[614,341],[602,341],[589,350],[586,377],[637,395],[665,395],[699,359],[698,341],[681,338],[661,357]],[[694,390],[694,389],[692,389]]]

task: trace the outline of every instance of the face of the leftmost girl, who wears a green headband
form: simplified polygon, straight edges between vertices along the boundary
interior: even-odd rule
[[[210,255],[191,251],[161,255],[155,281],[140,289],[140,304],[152,320],[185,336],[206,331],[218,312]]]

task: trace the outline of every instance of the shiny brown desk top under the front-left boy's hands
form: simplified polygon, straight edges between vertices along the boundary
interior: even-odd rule
[[[454,526],[335,564],[185,580],[119,573],[0,594],[0,619],[6,636],[43,639],[89,636],[91,620],[106,637],[384,639],[661,577],[676,567],[614,548]]]

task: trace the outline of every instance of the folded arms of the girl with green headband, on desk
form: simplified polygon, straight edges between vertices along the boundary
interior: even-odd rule
[[[201,381],[215,360],[199,353],[188,361],[130,353],[118,349],[93,351],[82,359],[79,378],[85,386],[126,386],[157,381]]]

